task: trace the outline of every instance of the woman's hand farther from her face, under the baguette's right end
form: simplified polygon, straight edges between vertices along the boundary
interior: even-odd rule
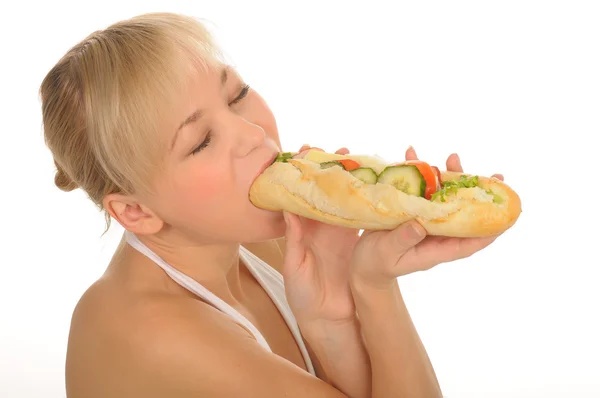
[[[410,147],[406,160],[417,160]],[[463,172],[460,158],[452,154],[446,160],[448,171]],[[494,174],[504,180],[501,174]],[[466,258],[489,246],[498,236],[452,238],[427,236],[417,221],[409,221],[391,231],[364,231],[354,247],[351,260],[353,280],[376,288],[387,288],[397,277]]]

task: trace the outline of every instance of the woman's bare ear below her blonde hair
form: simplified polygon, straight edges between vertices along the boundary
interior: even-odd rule
[[[164,225],[157,214],[131,196],[112,193],[104,198],[103,204],[123,228],[137,235],[155,234]]]

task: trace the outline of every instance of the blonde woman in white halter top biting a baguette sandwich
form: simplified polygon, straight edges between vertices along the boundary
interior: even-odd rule
[[[69,397],[442,395],[396,278],[494,238],[359,236],[252,206],[275,119],[191,18],[94,32],[41,97],[56,185],[126,230],[74,311]]]

